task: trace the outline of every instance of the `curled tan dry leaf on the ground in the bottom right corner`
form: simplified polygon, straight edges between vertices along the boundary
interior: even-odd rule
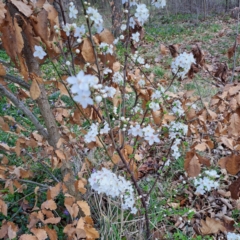
[[[201,220],[201,225],[202,227],[200,228],[200,231],[202,235],[216,234],[219,231],[226,231],[221,221],[209,217],[206,218],[206,221]]]

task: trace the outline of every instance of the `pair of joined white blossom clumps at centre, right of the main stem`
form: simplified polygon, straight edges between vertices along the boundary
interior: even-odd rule
[[[147,125],[143,129],[139,124],[131,126],[131,128],[128,130],[128,134],[131,134],[134,137],[144,137],[144,140],[146,140],[150,146],[154,143],[160,142],[160,139],[155,133],[155,130],[150,125]]]

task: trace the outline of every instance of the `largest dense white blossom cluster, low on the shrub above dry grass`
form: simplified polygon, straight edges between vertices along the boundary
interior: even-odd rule
[[[112,198],[121,197],[122,209],[131,209],[131,213],[136,214],[134,190],[130,181],[106,168],[92,173],[88,181],[98,194],[105,193]]]

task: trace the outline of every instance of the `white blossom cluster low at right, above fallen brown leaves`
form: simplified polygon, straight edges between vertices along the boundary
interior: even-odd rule
[[[212,188],[217,189],[219,187],[219,183],[215,180],[219,177],[216,170],[205,171],[205,174],[208,176],[194,179],[195,193],[203,195],[211,191]]]

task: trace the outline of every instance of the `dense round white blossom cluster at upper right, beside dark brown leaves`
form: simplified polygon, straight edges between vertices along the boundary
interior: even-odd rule
[[[190,70],[192,63],[196,63],[192,53],[181,53],[171,64],[173,74],[183,79]]]

